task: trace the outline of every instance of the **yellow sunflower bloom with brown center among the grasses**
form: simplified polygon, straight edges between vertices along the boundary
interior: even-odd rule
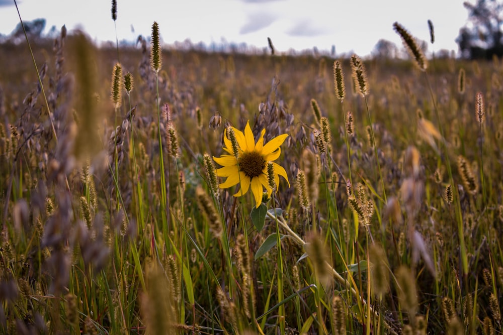
[[[228,137],[227,130],[224,130],[223,140],[225,147],[223,150],[225,150],[228,155],[213,157],[215,162],[223,166],[222,168],[217,169],[217,175],[219,177],[227,177],[225,182],[220,184],[220,188],[232,187],[240,182],[241,188],[236,194],[234,194],[234,196],[242,196],[246,194],[251,186],[251,192],[255,197],[258,208],[262,203],[263,187],[266,188],[267,195],[269,197],[273,192],[267,180],[268,162],[273,164],[273,174],[276,185],[279,184],[279,176],[282,176],[286,179],[288,186],[290,186],[285,169],[272,162],[280,157],[280,146],[283,144],[288,135],[283,134],[277,136],[268,143],[264,144],[264,134],[266,133],[266,130],[262,130],[259,140],[255,143],[249,121],[246,123],[246,127],[244,128],[244,134],[234,127],[231,127],[231,129],[235,135],[235,142],[237,142],[237,148],[235,148],[237,149],[237,155],[234,155],[232,142]]]

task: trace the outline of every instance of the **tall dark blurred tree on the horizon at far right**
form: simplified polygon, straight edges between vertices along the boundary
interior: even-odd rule
[[[456,42],[463,58],[503,56],[503,2],[477,0],[475,5],[464,2],[468,10],[468,25],[459,30]]]

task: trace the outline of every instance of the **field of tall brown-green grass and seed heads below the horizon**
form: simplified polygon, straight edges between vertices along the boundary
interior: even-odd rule
[[[1,333],[501,333],[498,59],[0,48]]]

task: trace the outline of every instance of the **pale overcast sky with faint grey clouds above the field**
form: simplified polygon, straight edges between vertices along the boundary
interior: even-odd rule
[[[474,3],[475,0],[471,0]],[[163,43],[246,43],[260,49],[270,37],[277,52],[312,49],[337,54],[371,54],[380,39],[401,47],[396,21],[412,36],[430,41],[428,20],[435,27],[429,52],[458,51],[459,29],[467,23],[462,0],[117,0],[119,41],[150,35],[159,24]],[[18,0],[23,21],[46,19],[47,32],[62,25],[81,28],[97,42],[114,41],[111,0]],[[0,0],[0,34],[19,23],[14,0]]]

